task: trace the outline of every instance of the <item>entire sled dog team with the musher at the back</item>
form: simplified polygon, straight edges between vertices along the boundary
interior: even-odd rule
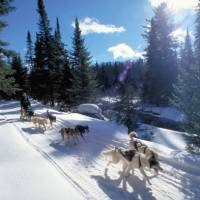
[[[40,128],[43,127],[44,130],[46,130],[46,126],[48,124],[47,119],[49,120],[51,127],[53,126],[53,123],[56,122],[56,117],[50,114],[48,110],[47,118],[35,115],[30,109],[30,102],[26,93],[23,94],[21,100],[20,118],[31,119],[35,126],[39,126]],[[59,132],[63,141],[65,136],[68,140],[74,139],[78,141],[78,136],[85,140],[84,134],[89,132],[89,127],[82,125],[76,125],[75,128],[63,127]],[[130,175],[130,171],[134,174],[134,169],[139,169],[144,176],[144,179],[151,184],[144,169],[153,169],[156,175],[158,175],[159,171],[163,171],[159,163],[158,154],[146,144],[138,140],[136,132],[130,132],[129,137],[130,141],[127,148],[114,147],[111,150],[102,152],[103,156],[110,158],[107,167],[110,164],[118,164],[122,162],[122,175],[124,178]]]

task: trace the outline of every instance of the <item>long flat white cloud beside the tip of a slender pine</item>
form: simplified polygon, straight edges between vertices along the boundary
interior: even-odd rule
[[[74,22],[72,23],[74,27]],[[101,24],[97,19],[86,17],[79,22],[80,29],[83,35],[89,33],[121,33],[126,31],[123,26],[116,27],[112,24]]]

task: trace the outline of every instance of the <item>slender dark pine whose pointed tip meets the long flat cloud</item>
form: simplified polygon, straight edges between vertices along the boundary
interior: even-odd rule
[[[77,18],[73,35],[71,65],[74,77],[72,88],[74,103],[77,105],[91,101],[96,89],[95,75],[90,67],[91,57],[85,48]]]

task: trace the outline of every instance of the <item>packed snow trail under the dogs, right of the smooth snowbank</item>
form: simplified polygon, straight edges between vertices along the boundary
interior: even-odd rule
[[[38,114],[45,114],[47,108],[35,104],[34,109]],[[181,149],[178,149],[178,147],[170,148],[172,142],[169,142],[170,137],[165,138],[164,133],[163,136],[162,134],[159,136],[162,138],[161,144],[158,144],[161,140],[147,142],[159,154],[162,153],[163,158],[165,158],[165,154],[167,155],[165,159],[161,160],[161,165],[165,171],[158,177],[152,177],[152,185],[149,186],[144,183],[139,172],[126,180],[122,179],[120,165],[112,165],[108,170],[105,170],[107,160],[100,153],[112,146],[127,145],[127,130],[124,127],[80,114],[50,110],[51,113],[56,115],[58,122],[52,129],[48,127],[48,130],[43,132],[36,129],[31,122],[19,120],[19,104],[17,102],[0,103],[0,110],[1,114],[7,118],[6,123],[12,124],[18,135],[23,136],[32,147],[51,158],[57,170],[63,171],[78,191],[83,192],[85,199],[200,199],[200,180],[196,178],[199,173],[196,176],[193,173],[188,173],[176,164],[176,160],[174,165],[167,162],[174,159],[172,157],[174,151],[181,151]],[[86,136],[87,141],[84,142],[80,139],[77,145],[72,142],[63,143],[58,132],[59,129],[63,126],[73,127],[76,124],[89,125],[90,133]],[[165,130],[159,129],[159,131]],[[172,134],[171,131],[168,130],[168,132]],[[158,140],[159,137],[157,137]],[[149,171],[147,173],[149,176],[153,175]],[[76,200],[76,198],[71,199]]]

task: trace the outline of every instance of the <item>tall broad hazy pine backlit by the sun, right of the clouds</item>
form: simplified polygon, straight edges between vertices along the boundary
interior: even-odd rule
[[[148,42],[143,92],[146,102],[166,105],[172,96],[177,78],[176,43],[171,36],[173,30],[167,5],[162,3],[155,9],[144,35]]]

